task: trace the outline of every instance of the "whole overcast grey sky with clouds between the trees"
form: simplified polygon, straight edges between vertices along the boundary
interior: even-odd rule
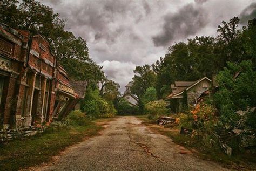
[[[137,65],[154,63],[174,42],[215,36],[222,20],[256,17],[254,0],[41,0],[66,29],[83,37],[90,57],[121,90]]]

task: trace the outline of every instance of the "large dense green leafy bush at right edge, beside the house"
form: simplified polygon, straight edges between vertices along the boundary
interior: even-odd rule
[[[239,75],[234,78],[235,74]],[[256,71],[252,61],[228,63],[228,68],[218,74],[217,81],[220,90],[214,95],[214,100],[220,111],[221,124],[227,129],[241,128],[238,121],[245,115],[237,111],[256,106]]]

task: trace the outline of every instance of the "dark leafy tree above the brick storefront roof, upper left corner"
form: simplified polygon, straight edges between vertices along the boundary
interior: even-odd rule
[[[28,30],[31,35],[40,33],[49,42],[64,30],[65,20],[59,18],[52,8],[34,0],[3,0],[0,2],[0,22],[12,28]]]

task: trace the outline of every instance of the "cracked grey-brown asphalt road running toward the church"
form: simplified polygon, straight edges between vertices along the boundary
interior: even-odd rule
[[[187,150],[150,131],[136,117],[110,121],[100,134],[39,170],[227,170],[191,153],[181,154]]]

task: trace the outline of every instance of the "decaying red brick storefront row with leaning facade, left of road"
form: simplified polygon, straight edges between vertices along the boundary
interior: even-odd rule
[[[0,24],[0,128],[62,118],[79,100],[48,41]]]

